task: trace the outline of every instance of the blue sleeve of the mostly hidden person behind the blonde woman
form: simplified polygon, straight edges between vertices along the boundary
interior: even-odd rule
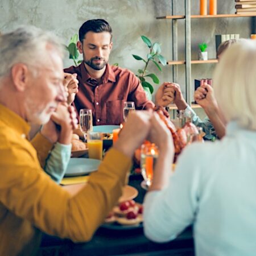
[[[213,124],[210,122],[210,119],[208,117],[205,117],[202,121],[199,116],[195,113],[195,111],[188,105],[185,109],[185,113],[191,112],[192,116],[192,123],[195,126],[202,127],[203,131],[205,132],[205,139],[208,139],[209,141],[212,141],[217,138],[216,131],[213,127]]]

